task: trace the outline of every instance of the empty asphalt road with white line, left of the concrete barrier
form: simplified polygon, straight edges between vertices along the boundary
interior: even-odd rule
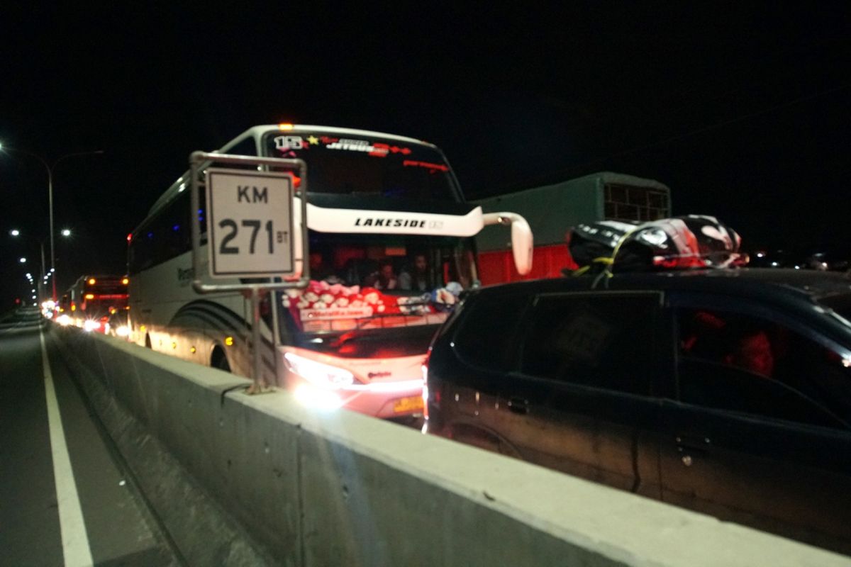
[[[0,566],[183,564],[48,331],[0,318]]]

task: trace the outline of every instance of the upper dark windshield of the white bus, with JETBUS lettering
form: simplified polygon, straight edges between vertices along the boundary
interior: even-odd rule
[[[370,195],[419,201],[460,201],[440,150],[431,145],[352,133],[273,132],[266,156],[308,162],[310,193]]]

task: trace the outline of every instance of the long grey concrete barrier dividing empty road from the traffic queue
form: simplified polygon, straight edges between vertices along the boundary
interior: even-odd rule
[[[111,337],[53,333],[189,564],[849,565]]]

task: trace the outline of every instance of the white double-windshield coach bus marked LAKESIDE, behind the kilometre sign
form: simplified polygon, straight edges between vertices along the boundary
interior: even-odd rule
[[[307,164],[311,281],[304,290],[267,294],[260,329],[266,382],[307,403],[376,417],[421,412],[420,366],[431,337],[458,294],[478,285],[473,236],[485,224],[511,224],[518,269],[531,268],[532,236],[523,218],[483,215],[466,203],[435,145],[363,130],[272,125],[250,128],[217,151]],[[294,182],[302,198],[302,182]],[[249,377],[250,300],[239,292],[200,295],[192,287],[190,193],[187,172],[129,235],[131,339]],[[198,276],[213,283],[203,192],[201,198]],[[300,275],[300,252],[295,260]]]

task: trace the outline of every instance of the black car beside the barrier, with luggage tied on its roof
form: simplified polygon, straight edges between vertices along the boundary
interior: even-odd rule
[[[851,553],[849,321],[814,271],[483,287],[431,344],[424,430]]]

